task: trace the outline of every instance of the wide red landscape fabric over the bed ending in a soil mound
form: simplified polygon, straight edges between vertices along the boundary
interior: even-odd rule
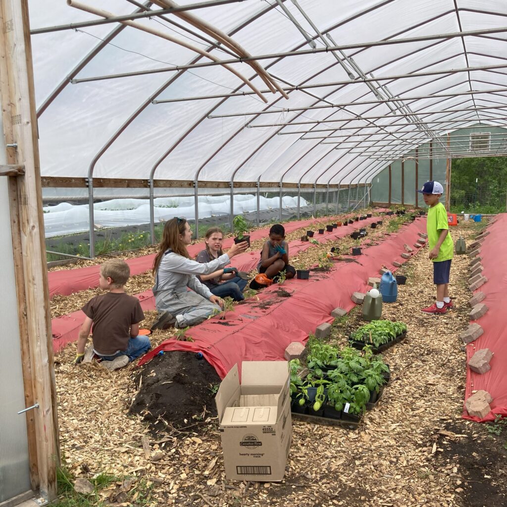
[[[364,224],[365,221],[363,221]],[[228,312],[225,321],[213,317],[187,332],[193,342],[166,340],[141,358],[142,365],[160,350],[202,352],[221,378],[242,361],[280,360],[286,346],[305,342],[317,325],[332,322],[331,311],[350,310],[352,293],[366,292],[368,278],[378,276],[381,266],[391,271],[392,261],[400,263],[404,243],[413,243],[418,232],[426,229],[426,220],[417,219],[400,232],[387,236],[377,246],[364,249],[356,263],[338,263],[330,272],[312,273],[309,280],[287,280],[283,285],[291,297],[276,295],[278,286],[263,289],[258,300],[250,298]],[[414,252],[414,254],[417,251]]]

